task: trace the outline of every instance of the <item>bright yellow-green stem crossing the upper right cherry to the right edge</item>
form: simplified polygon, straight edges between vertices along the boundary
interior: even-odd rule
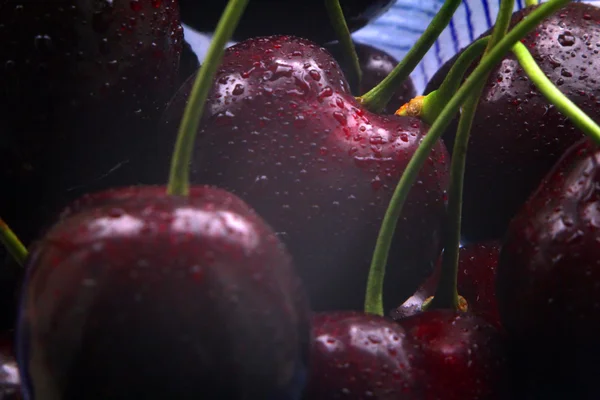
[[[600,144],[600,127],[554,86],[550,79],[546,77],[544,71],[536,64],[527,47],[523,43],[517,43],[513,46],[512,52],[517,57],[517,61],[519,61],[525,74],[546,97],[548,102],[553,104],[558,111],[573,122],[573,125],[581,129],[594,142]]]

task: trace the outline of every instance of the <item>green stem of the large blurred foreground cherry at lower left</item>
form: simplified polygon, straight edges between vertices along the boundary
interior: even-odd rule
[[[179,126],[177,142],[171,160],[167,193],[187,196],[190,191],[190,162],[204,111],[204,103],[212,86],[217,68],[221,64],[224,48],[246,9],[248,0],[229,0],[215,29],[215,34],[206,53],[204,64],[198,71]]]

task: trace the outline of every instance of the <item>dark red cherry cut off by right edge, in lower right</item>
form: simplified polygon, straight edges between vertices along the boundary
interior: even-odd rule
[[[574,145],[512,220],[498,262],[502,324],[527,349],[519,364],[571,398],[600,396],[599,163],[587,139]]]

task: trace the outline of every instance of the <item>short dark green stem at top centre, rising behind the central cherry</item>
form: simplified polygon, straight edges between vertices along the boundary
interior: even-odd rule
[[[327,8],[327,14],[329,14],[331,26],[333,27],[338,41],[342,46],[344,58],[346,59],[345,61],[351,65],[349,71],[351,75],[347,77],[350,87],[354,90],[358,90],[362,80],[362,71],[360,69],[358,54],[356,54],[356,48],[352,42],[350,30],[348,29],[346,19],[344,18],[344,12],[342,11],[340,0],[325,0],[325,8]]]

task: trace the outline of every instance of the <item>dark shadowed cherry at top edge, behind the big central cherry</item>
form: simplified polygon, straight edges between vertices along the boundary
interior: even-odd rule
[[[340,0],[346,23],[354,32],[383,14],[392,0]],[[215,30],[226,0],[179,0],[181,18],[199,32]],[[287,1],[252,0],[235,29],[236,41],[256,36],[295,35],[318,43],[335,40],[329,16],[322,0]]]

